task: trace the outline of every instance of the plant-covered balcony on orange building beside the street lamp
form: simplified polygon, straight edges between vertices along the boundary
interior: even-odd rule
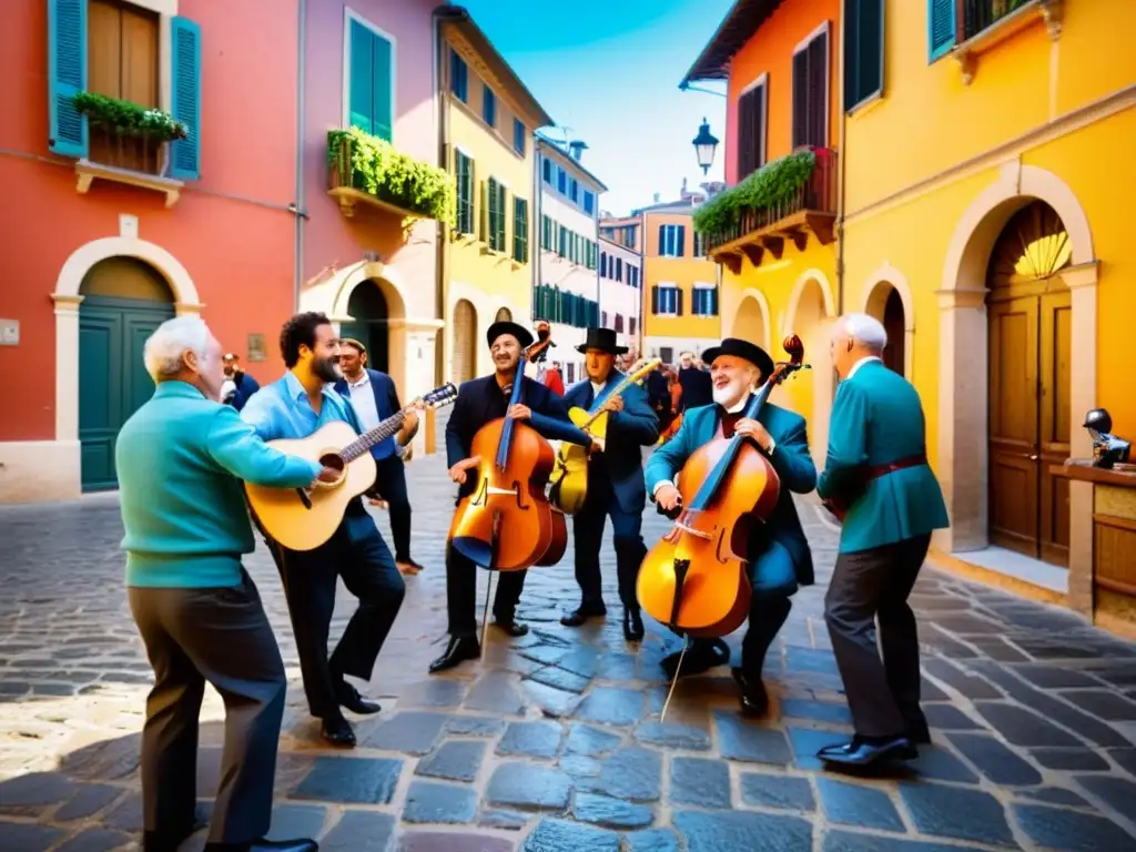
[[[799,251],[810,234],[828,245],[836,220],[836,152],[800,148],[767,162],[694,211],[705,251],[735,275],[743,258],[759,266],[768,251],[780,259],[785,241]]]

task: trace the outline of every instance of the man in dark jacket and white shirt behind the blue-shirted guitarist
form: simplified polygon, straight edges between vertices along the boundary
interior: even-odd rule
[[[402,408],[394,379],[367,366],[367,349],[359,341],[340,341],[340,369],[343,378],[335,383],[335,391],[351,400],[365,432]],[[374,491],[386,501],[391,512],[394,562],[402,574],[409,575],[418,574],[423,567],[410,558],[410,498],[407,496],[402,449],[417,432],[418,415],[409,411],[398,435],[391,435],[370,449],[370,454],[375,457]]]

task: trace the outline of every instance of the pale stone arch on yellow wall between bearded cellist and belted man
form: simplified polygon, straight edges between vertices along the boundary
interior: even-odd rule
[[[808,328],[799,328],[801,300],[808,292],[810,284],[816,284],[820,290],[818,316]],[[828,419],[833,410],[835,389],[828,342],[834,321],[836,321],[836,299],[833,295],[833,285],[828,281],[828,276],[820,269],[805,269],[797,276],[796,283],[793,284],[793,290],[790,292],[788,310],[785,314],[785,324],[780,329],[780,336],[784,339],[791,334],[799,335],[801,342],[804,343],[804,362],[812,365],[812,369],[809,371],[812,374],[812,418],[809,423],[809,443],[812,460],[818,470],[824,467],[825,457],[828,453]],[[769,350],[774,360],[784,358],[780,344],[779,340]],[[804,378],[807,375],[797,374],[795,381],[808,381]]]

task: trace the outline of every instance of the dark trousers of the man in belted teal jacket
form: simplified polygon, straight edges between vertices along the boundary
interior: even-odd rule
[[[836,558],[825,621],[860,736],[901,736],[927,725],[919,708],[919,633],[908,595],[929,545],[930,535],[919,535]]]

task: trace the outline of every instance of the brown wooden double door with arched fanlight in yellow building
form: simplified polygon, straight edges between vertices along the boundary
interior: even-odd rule
[[[1072,298],[1059,272],[1072,245],[1031,201],[1005,224],[986,270],[989,316],[989,538],[1053,565],[1069,560]]]

